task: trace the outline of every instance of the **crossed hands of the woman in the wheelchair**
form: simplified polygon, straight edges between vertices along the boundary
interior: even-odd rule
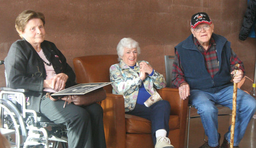
[[[43,87],[51,88],[55,91],[63,90],[66,86],[66,81],[68,80],[68,75],[60,73],[55,75],[50,80],[44,80]]]

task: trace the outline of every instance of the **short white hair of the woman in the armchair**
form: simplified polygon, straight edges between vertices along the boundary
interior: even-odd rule
[[[138,42],[136,42],[132,38],[122,38],[116,47],[116,51],[118,54],[118,61],[120,61],[121,57],[124,55],[125,48],[128,48],[128,49],[136,48],[138,55],[140,54],[140,46]]]

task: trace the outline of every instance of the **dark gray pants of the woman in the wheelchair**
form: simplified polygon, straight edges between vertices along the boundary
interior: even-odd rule
[[[51,101],[43,95],[40,112],[54,123],[67,126],[69,148],[106,148],[103,110],[97,103],[88,106]]]

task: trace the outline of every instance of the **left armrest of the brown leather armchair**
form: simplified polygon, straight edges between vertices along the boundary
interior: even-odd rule
[[[107,148],[125,148],[125,102],[122,95],[106,93],[102,101]]]

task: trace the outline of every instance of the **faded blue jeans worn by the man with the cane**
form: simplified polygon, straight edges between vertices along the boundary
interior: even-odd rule
[[[218,109],[215,104],[226,106],[232,110],[233,86],[226,87],[215,93],[201,90],[190,90],[189,103],[195,106],[200,115],[204,131],[208,137],[208,145],[215,147],[218,145]],[[256,100],[246,92],[237,90],[236,99],[236,123],[234,130],[234,145],[238,146],[249,121],[256,110]],[[230,128],[224,138],[230,141]]]

